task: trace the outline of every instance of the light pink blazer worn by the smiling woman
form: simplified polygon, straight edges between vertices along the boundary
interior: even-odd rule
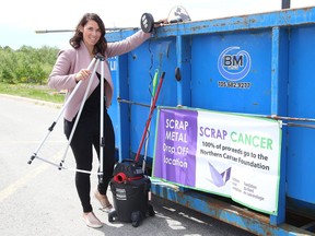
[[[110,69],[107,59],[110,57],[119,56],[126,52],[129,52],[140,46],[144,40],[150,38],[150,33],[143,33],[142,31],[137,32],[136,34],[127,37],[124,40],[108,43],[107,50],[105,55],[105,67],[104,67],[104,76],[106,79],[105,83],[105,96],[106,96],[106,107],[108,108],[112,104],[114,85],[110,75]],[[48,85],[55,90],[67,90],[66,99],[70,96],[74,90],[77,82],[74,80],[75,73],[81,69],[88,68],[91,62],[91,58],[88,51],[88,48],[83,43],[81,43],[80,48],[69,48],[60,50],[58,54],[57,61],[52,68],[52,71],[48,78]],[[93,70],[92,67],[91,70]],[[97,70],[101,74],[101,62],[98,63]],[[94,75],[95,76],[95,75]],[[89,91],[89,96],[98,85],[100,81],[94,78]],[[65,118],[69,121],[72,121],[74,116],[78,114],[81,103],[86,91],[89,80],[82,81],[79,90],[75,92],[68,106],[65,109]]]

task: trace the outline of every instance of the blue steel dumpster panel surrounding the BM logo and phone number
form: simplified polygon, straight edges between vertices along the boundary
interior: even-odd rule
[[[229,82],[219,73],[220,54],[238,46],[252,58],[252,70],[242,80],[250,88],[219,87]],[[259,49],[259,50],[258,50]],[[240,32],[198,35],[191,45],[191,106],[234,113],[270,114],[271,74],[270,32]]]

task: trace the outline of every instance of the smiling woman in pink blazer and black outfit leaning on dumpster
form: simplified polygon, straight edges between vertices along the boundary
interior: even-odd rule
[[[110,211],[113,205],[107,199],[106,191],[113,175],[115,165],[115,135],[107,108],[110,106],[113,97],[113,81],[107,62],[107,58],[126,54],[140,46],[150,38],[150,33],[137,32],[132,36],[117,43],[107,43],[105,39],[105,26],[101,17],[95,13],[86,13],[79,22],[73,37],[70,39],[72,48],[61,50],[48,79],[48,85],[56,90],[67,90],[67,98],[73,92],[80,81],[80,87],[72,96],[65,110],[65,134],[69,139],[72,127],[77,119],[84,93],[90,78],[94,78],[91,84],[88,98],[80,115],[75,132],[70,146],[73,152],[77,169],[92,170],[93,146],[100,161],[100,116],[101,116],[101,63],[94,76],[88,67],[94,56],[102,55],[105,58],[105,107],[104,107],[104,161],[103,181],[100,181],[94,193],[101,202],[104,211]],[[93,76],[92,76],[93,75]],[[83,219],[90,227],[102,227],[102,222],[93,213],[91,205],[91,181],[90,174],[75,173],[75,187],[83,208]]]

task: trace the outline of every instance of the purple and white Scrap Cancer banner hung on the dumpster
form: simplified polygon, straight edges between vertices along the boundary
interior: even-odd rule
[[[277,215],[281,121],[159,107],[153,177]]]

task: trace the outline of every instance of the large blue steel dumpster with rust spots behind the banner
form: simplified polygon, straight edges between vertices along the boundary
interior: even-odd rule
[[[135,31],[106,35],[108,42]],[[280,119],[278,215],[266,215],[178,186],[152,192],[257,235],[314,235],[315,8],[187,22],[158,28],[139,48],[110,59],[116,92],[109,113],[119,158],[135,156],[148,119],[155,71],[165,80],[158,106],[187,106]],[[156,116],[152,118],[156,122]],[[154,156],[150,127],[147,165]],[[141,152],[143,155],[143,151]]]

